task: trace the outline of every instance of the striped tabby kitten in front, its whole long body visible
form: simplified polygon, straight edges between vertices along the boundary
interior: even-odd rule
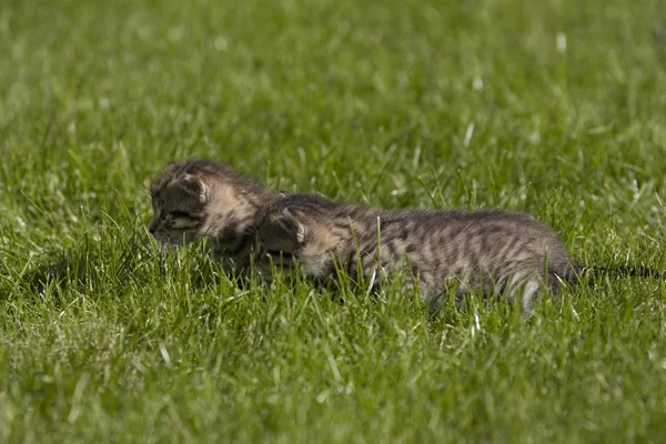
[[[332,279],[342,270],[371,287],[401,269],[436,310],[447,291],[503,293],[529,311],[543,287],[575,281],[564,244],[544,224],[504,211],[382,211],[315,195],[281,194],[256,214],[255,263]]]

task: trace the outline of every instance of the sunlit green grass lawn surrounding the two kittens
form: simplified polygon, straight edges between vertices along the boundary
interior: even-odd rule
[[[666,270],[660,3],[3,1],[0,442],[666,441],[658,280],[428,319],[400,280],[240,289],[147,233],[201,157]]]

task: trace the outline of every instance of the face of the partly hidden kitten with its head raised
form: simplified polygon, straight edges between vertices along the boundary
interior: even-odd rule
[[[150,233],[165,246],[178,246],[206,235],[208,188],[196,176],[180,178],[151,189]]]

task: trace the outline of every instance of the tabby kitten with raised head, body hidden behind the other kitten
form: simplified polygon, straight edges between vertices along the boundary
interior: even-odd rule
[[[150,233],[174,248],[208,238],[224,270],[245,272],[256,210],[274,193],[232,169],[205,160],[169,164],[150,189]]]

